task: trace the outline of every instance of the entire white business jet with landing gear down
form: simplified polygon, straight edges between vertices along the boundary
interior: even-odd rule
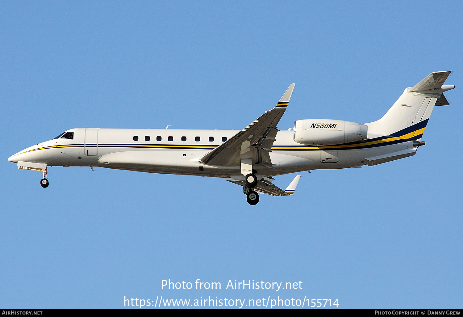
[[[430,74],[405,89],[392,108],[370,123],[308,119],[294,122],[293,131],[279,131],[294,83],[275,108],[242,130],[95,129],[76,128],[22,150],[8,160],[24,170],[48,166],[94,166],[150,173],[223,178],[243,186],[251,205],[258,193],[293,195],[300,175],[286,190],[273,176],[377,165],[415,155],[434,106],[448,105],[443,85],[450,71]]]

